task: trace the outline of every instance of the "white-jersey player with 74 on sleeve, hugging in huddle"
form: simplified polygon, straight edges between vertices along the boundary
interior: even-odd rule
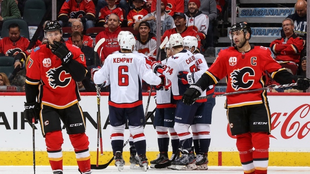
[[[194,55],[183,49],[183,38],[179,33],[171,34],[169,37],[169,46],[174,55],[167,59],[166,68],[163,70],[159,66],[153,66],[152,69],[158,73],[163,73],[171,80],[171,89],[173,98],[177,100],[174,130],[176,131],[181,145],[181,157],[179,160],[171,163],[171,168],[177,170],[194,170],[195,158],[191,150],[192,135],[190,134],[189,126],[193,124],[195,116],[203,116],[205,107],[203,106],[206,99],[196,101],[192,107],[187,107],[180,99],[189,84],[183,84],[178,80],[179,72],[197,72]],[[205,96],[205,92],[201,91],[201,96]]]

